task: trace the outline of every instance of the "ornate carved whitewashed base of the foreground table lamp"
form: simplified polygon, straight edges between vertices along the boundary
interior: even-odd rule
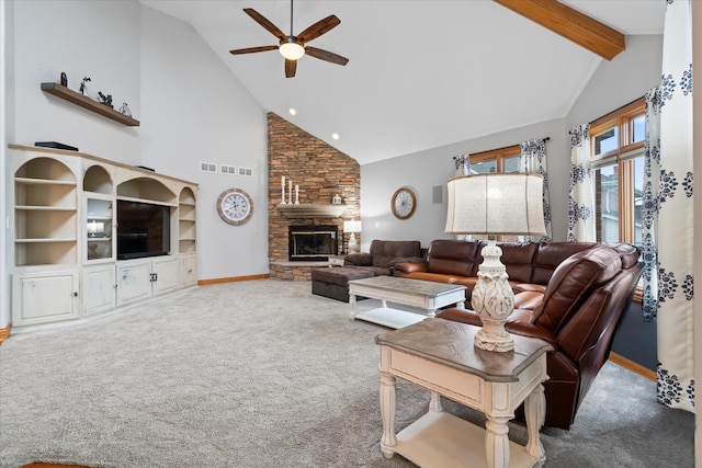
[[[505,322],[514,310],[514,293],[500,262],[502,249],[495,240],[489,240],[482,254],[484,261],[478,266],[478,281],[471,297],[471,304],[483,321],[483,328],[475,334],[475,345],[499,353],[512,351],[514,341],[505,330]]]

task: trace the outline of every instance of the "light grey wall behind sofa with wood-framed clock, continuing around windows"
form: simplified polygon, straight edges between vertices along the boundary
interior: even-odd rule
[[[526,127],[433,148],[412,155],[361,167],[361,248],[373,239],[417,239],[429,247],[445,235],[445,185],[453,176],[453,156],[478,152],[526,139],[551,137],[546,144],[553,238],[567,237],[568,185],[570,176],[570,139],[568,129],[593,121],[626,104],[660,81],[661,36],[631,36],[626,50],[611,61],[603,60],[577,99],[567,116]],[[544,99],[548,99],[544,96]],[[410,186],[417,194],[417,210],[408,220],[395,218],[389,201],[395,190]],[[432,187],[442,185],[443,201],[432,204]]]

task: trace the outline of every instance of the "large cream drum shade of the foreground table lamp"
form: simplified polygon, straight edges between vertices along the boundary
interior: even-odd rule
[[[445,232],[543,236],[543,179],[522,172],[449,180]]]

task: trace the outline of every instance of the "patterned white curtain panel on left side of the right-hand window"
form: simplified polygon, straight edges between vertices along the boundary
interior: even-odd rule
[[[578,125],[568,133],[570,134],[568,242],[596,242],[590,124]]]

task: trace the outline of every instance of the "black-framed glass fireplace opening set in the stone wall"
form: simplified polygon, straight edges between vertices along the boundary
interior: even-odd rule
[[[339,253],[337,226],[288,226],[290,261],[320,261]]]

